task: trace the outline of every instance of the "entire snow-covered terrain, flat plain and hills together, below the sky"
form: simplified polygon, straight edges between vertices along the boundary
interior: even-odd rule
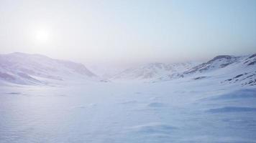
[[[104,80],[72,61],[1,55],[0,143],[256,142],[256,54],[188,66]]]

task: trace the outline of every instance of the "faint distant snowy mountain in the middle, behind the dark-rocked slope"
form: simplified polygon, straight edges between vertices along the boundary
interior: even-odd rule
[[[198,62],[184,62],[184,63],[151,63],[143,66],[138,66],[130,69],[126,69],[119,74],[116,74],[111,79],[113,80],[151,80],[159,77],[166,76],[168,74],[174,74],[191,69],[196,66]]]

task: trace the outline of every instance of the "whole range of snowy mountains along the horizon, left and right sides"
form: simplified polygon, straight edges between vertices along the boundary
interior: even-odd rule
[[[204,63],[151,63],[125,69],[102,80],[83,64],[40,54],[0,54],[0,84],[58,84],[65,81],[165,82],[174,79],[218,80],[220,84],[256,85],[256,54],[216,56]]]

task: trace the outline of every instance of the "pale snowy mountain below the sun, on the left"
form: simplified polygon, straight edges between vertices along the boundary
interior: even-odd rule
[[[63,80],[95,79],[83,64],[51,59],[40,54],[1,54],[0,82],[14,84],[49,84]]]

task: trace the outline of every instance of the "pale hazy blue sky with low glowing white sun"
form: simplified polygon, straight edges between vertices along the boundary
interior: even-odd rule
[[[256,1],[0,0],[0,53],[81,62],[256,53]]]

